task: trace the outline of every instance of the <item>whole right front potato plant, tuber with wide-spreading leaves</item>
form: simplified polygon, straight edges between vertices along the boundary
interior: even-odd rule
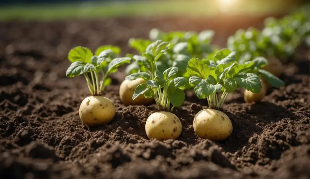
[[[191,76],[189,83],[194,86],[199,99],[207,99],[209,108],[198,112],[194,118],[194,130],[201,138],[223,140],[232,131],[229,118],[217,109],[221,108],[228,95],[237,88],[245,88],[251,93],[260,93],[262,89],[259,76],[272,85],[280,87],[283,81],[261,68],[267,64],[263,57],[255,58],[245,64],[238,64],[236,52],[219,50],[212,59],[192,58],[188,62],[187,72]],[[220,98],[217,93],[222,92]],[[208,129],[208,130],[206,130]]]

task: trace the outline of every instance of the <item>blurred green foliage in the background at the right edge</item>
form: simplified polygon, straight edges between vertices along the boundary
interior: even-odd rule
[[[237,52],[239,63],[260,56],[275,56],[284,61],[294,59],[300,44],[305,42],[310,46],[309,14],[309,11],[298,10],[281,19],[265,19],[261,31],[252,27],[237,30],[227,40],[228,49]]]

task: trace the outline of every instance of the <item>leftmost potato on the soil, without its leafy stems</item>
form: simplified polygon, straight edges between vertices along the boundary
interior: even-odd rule
[[[89,96],[82,101],[79,114],[82,122],[87,126],[108,123],[115,116],[115,106],[108,98]]]

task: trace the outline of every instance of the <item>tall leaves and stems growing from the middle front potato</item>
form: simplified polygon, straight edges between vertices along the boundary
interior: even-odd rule
[[[173,110],[179,107],[185,100],[184,87],[187,80],[184,77],[177,77],[178,67],[165,68],[163,71],[157,62],[161,62],[164,53],[170,49],[170,43],[157,40],[145,48],[141,56],[135,55],[133,58],[143,71],[132,73],[126,80],[136,80],[142,78],[146,84],[140,84],[135,89],[132,99],[139,95],[146,98],[154,97],[158,109]],[[172,104],[172,108],[170,108]]]

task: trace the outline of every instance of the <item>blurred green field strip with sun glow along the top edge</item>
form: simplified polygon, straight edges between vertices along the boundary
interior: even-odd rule
[[[310,0],[0,0],[0,19],[283,14]]]

